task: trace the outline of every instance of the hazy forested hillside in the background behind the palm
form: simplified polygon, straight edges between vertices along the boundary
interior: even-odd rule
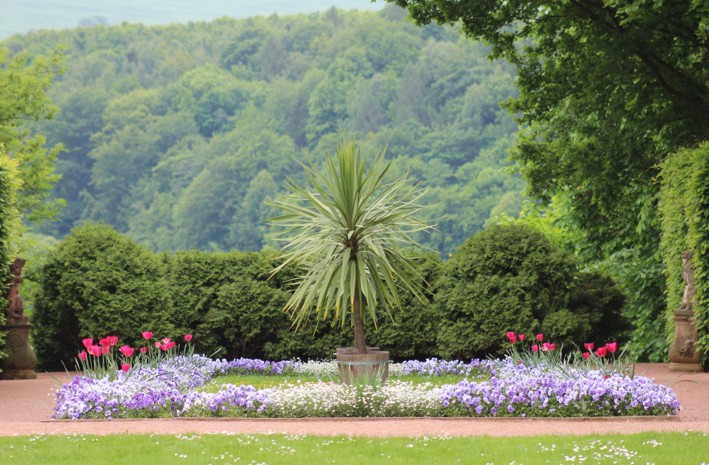
[[[67,206],[41,231],[97,221],[154,250],[259,250],[264,202],[348,135],[387,146],[429,187],[438,230],[422,242],[447,255],[519,210],[523,182],[507,169],[517,128],[498,105],[514,70],[453,28],[404,18],[332,9],[4,41],[12,53],[64,47],[49,92],[61,114],[35,129],[65,147],[55,195]]]

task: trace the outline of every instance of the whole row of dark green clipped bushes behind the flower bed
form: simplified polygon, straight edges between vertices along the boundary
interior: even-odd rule
[[[386,348],[395,360],[465,358],[498,350],[508,330],[541,329],[578,342],[599,322],[618,316],[622,296],[609,278],[577,273],[573,260],[534,230],[508,225],[490,231],[499,249],[517,247],[480,249],[474,240],[495,248],[483,235],[473,236],[446,264],[435,254],[421,255],[426,301],[404,295],[395,321],[367,326],[367,342]],[[538,250],[530,254],[527,243]],[[271,278],[277,260],[273,251],[155,255],[109,226],[76,228],[39,270],[33,317],[39,363],[60,368],[84,337],[116,334],[130,344],[142,331],[193,333],[197,350],[227,358],[330,358],[335,348],[351,345],[349,328],[329,322],[292,330],[282,309],[295,270]],[[498,283],[497,291],[481,284],[485,279]],[[616,323],[603,329],[609,337]]]

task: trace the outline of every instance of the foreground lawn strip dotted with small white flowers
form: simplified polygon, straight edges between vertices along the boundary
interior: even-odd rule
[[[39,435],[0,438],[13,465],[709,464],[702,433],[352,438],[297,435]]]

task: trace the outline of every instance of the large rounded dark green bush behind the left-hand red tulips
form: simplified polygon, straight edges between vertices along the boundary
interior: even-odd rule
[[[173,334],[161,262],[109,226],[75,228],[38,274],[32,335],[45,369],[72,360],[84,337],[113,334],[130,344],[142,331]]]

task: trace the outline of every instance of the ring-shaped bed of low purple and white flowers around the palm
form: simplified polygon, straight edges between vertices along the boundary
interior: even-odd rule
[[[223,385],[200,391],[215,376],[241,374],[315,374],[336,376],[334,362],[297,363],[239,359],[211,360],[176,355],[154,367],[95,379],[76,376],[56,395],[54,418],[140,418],[172,416],[354,417],[354,416],[625,416],[674,415],[679,402],[672,390],[641,376],[568,368],[543,363],[528,367],[501,361],[428,360],[393,364],[396,379],[382,386],[344,386],[334,382],[291,383],[257,390]],[[407,374],[459,374],[457,384],[433,386],[406,381]]]

